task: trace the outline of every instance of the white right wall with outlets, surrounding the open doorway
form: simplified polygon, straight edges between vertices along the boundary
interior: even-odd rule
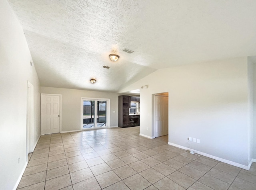
[[[140,133],[154,135],[152,94],[169,92],[169,142],[248,165],[247,58],[158,70],[120,92],[140,90]],[[148,130],[146,129],[148,127]]]

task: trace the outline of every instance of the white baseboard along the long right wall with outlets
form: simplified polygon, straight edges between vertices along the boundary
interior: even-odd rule
[[[176,144],[170,143],[170,142],[168,142],[168,145],[172,145],[174,147],[178,147],[178,148],[181,148],[181,149],[184,149],[184,150],[188,150],[188,151],[190,150],[190,148],[188,148],[188,147],[183,147],[183,146],[176,145]],[[196,151],[196,150],[194,150],[194,153],[198,153],[198,154],[200,154],[202,156],[209,157],[209,158],[212,158],[214,160],[217,160],[217,161],[220,161],[220,162],[223,162],[223,163],[226,163],[226,164],[230,164],[232,166],[243,168],[245,170],[249,170],[250,169],[250,165],[252,165],[252,164],[249,164],[248,166],[242,165],[242,164],[239,164],[239,163],[236,163],[236,162],[232,162],[232,161],[229,161],[229,160],[226,160],[226,159],[222,159],[222,158],[219,158],[219,157],[216,157],[216,156],[213,156],[213,155],[209,155],[207,153],[203,153],[203,152]]]

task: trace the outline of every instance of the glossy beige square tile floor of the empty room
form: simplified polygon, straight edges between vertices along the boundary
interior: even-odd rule
[[[139,127],[40,137],[19,190],[256,190],[249,171],[170,146]]]

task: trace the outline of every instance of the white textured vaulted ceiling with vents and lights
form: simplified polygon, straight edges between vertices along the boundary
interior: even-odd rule
[[[156,69],[256,55],[255,0],[8,1],[42,86],[116,92]]]

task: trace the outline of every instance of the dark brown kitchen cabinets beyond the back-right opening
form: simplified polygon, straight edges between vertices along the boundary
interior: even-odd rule
[[[118,96],[118,126],[134,127],[140,125],[140,115],[129,115],[131,101],[139,102],[140,97]]]

